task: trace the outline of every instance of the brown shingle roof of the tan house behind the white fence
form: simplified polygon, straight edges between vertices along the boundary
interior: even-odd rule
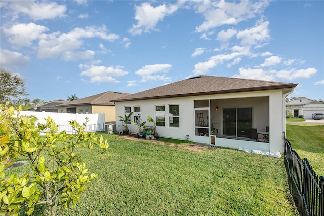
[[[76,106],[76,105],[111,105],[115,104],[111,100],[115,100],[120,97],[128,96],[128,93],[112,92],[107,91],[100,94],[92,95],[89,97],[84,97],[77,100],[72,100],[67,103],[63,103],[57,106]]]

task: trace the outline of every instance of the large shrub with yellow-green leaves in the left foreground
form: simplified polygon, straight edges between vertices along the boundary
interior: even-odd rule
[[[75,133],[67,135],[58,132],[50,117],[46,124],[36,124],[36,117],[21,116],[19,111],[15,114],[13,107],[0,107],[0,215],[18,215],[22,208],[30,215],[39,204],[50,207],[52,215],[57,206],[74,207],[87,184],[97,177],[88,173],[75,150],[86,144],[89,149],[97,144],[106,150],[108,141],[85,132],[88,119],[82,125],[69,121]],[[17,156],[26,158],[33,175],[5,177],[5,169]]]

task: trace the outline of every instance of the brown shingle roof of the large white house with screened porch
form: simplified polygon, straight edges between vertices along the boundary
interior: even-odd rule
[[[149,89],[146,91],[138,92],[136,94],[131,94],[125,97],[114,99],[112,101],[119,102],[156,98],[185,97],[194,95],[295,88],[297,85],[298,84],[274,81],[214,76],[198,76]]]

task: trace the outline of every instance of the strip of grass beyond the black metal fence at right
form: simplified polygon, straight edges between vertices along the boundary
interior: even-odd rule
[[[307,158],[319,176],[324,176],[324,125],[286,124],[286,138],[301,158]]]

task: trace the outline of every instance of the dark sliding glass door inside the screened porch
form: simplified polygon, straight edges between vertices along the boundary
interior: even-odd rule
[[[249,137],[252,128],[252,108],[224,108],[223,135]]]

